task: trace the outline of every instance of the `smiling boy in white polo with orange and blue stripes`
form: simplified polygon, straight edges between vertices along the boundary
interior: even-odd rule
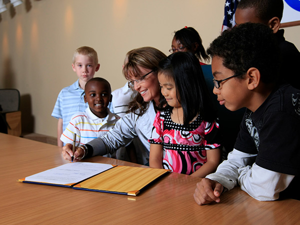
[[[84,88],[84,102],[88,103],[88,107],[85,111],[71,116],[60,140],[64,143],[72,143],[73,135],[76,133],[76,146],[79,146],[104,135],[120,119],[108,109],[111,99],[111,88],[106,79],[95,77],[88,80]],[[118,149],[113,155],[103,156],[125,159],[125,148]]]

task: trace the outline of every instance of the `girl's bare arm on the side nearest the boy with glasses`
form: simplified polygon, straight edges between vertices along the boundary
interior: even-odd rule
[[[219,148],[206,150],[206,157],[207,161],[199,169],[190,174],[191,176],[205,177],[209,173],[214,172],[220,163],[221,150]]]

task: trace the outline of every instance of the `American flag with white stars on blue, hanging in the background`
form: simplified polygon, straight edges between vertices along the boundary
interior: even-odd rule
[[[240,0],[226,0],[222,31],[235,25],[235,9]]]

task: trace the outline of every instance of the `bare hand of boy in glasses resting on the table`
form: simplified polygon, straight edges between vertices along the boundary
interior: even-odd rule
[[[208,204],[211,201],[219,202],[219,196],[222,191],[223,185],[219,182],[208,178],[202,178],[201,181],[197,183],[193,196],[197,204],[203,205]]]

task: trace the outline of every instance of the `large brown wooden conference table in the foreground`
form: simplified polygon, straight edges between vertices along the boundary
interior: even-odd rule
[[[235,187],[219,203],[193,199],[200,180],[170,172],[137,196],[17,182],[69,163],[61,147],[0,133],[1,224],[299,224],[300,201],[258,201]],[[94,156],[82,161],[143,166]],[[146,167],[146,166],[143,166]]]

